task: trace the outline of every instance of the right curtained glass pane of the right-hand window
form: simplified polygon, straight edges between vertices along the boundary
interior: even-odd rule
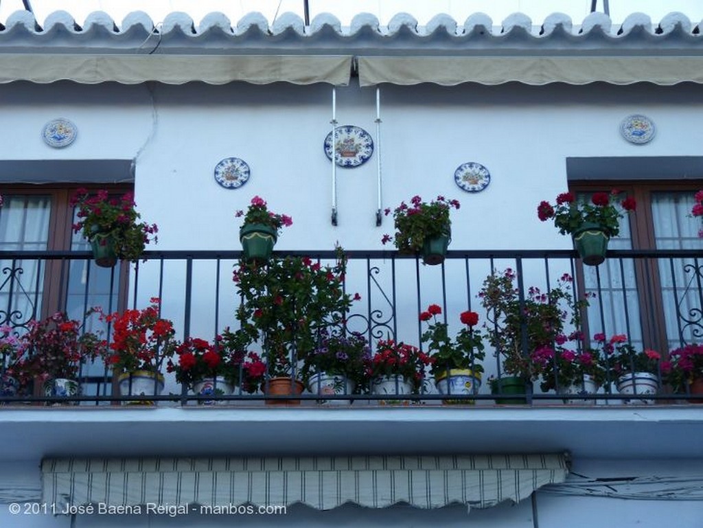
[[[660,250],[703,249],[700,219],[690,217],[692,192],[652,193],[654,240]],[[659,259],[666,339],[669,348],[703,336],[701,259]]]

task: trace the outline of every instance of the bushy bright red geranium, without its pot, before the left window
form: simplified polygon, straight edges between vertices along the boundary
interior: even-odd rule
[[[162,363],[176,352],[178,343],[172,321],[161,318],[160,299],[153,297],[144,309],[103,314],[112,324],[112,342],[105,362],[116,371],[159,372]]]

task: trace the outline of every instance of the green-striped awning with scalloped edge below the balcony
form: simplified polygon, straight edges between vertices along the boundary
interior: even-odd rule
[[[453,503],[489,508],[564,482],[565,456],[350,456],[250,458],[51,458],[42,501],[57,505],[232,507],[344,503],[385,508]]]

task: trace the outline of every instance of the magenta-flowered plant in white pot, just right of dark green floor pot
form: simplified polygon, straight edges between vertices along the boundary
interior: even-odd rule
[[[544,346],[531,354],[531,361],[541,376],[543,392],[555,390],[557,394],[595,394],[605,380],[598,350],[566,348],[569,341],[581,344],[581,334],[557,335],[554,346]],[[568,403],[595,403],[593,399],[570,399]]]

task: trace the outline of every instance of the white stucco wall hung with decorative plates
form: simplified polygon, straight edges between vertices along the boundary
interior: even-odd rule
[[[6,84],[0,86],[6,124],[0,129],[0,159],[134,159],[138,209],[160,228],[158,245],[149,247],[154,250],[239,249],[240,219],[234,212],[254,195],[293,217],[277,250],[331,250],[336,242],[347,250],[392,250],[380,242],[393,231],[392,217],[375,226],[379,156],[384,208],[415,194],[460,200],[462,207],[453,212],[453,250],[569,249],[568,238],[536,217],[538,202],[554,200],[567,188],[567,157],[697,155],[701,140],[703,101],[695,86],[507,84],[382,86],[379,142],[375,89],[352,84],[337,88],[337,121],[366,129],[376,149],[365,165],[337,169],[339,217],[332,226],[332,170],[323,153],[331,94],[327,85]],[[654,141],[638,146],[620,136],[619,123],[632,113],[654,121]],[[41,128],[55,117],[77,125],[77,140],[68,148],[41,141]],[[214,181],[214,167],[226,157],[250,165],[250,181],[238,190]],[[491,172],[491,184],[481,193],[465,193],[453,181],[456,168],[469,161]],[[216,307],[215,263],[195,262],[191,335],[212,337],[233,322],[232,264],[220,264]],[[378,281],[389,294],[390,263],[375,264],[382,267]],[[514,264],[494,263],[498,270]],[[348,273],[349,291],[362,294],[361,311],[368,300],[360,278],[365,265],[352,263]],[[554,278],[569,271],[567,261],[550,266]],[[534,266],[529,285],[543,285],[542,269],[541,263]],[[475,295],[490,271],[487,261],[472,263],[467,283],[463,262],[446,263],[450,321],[469,302],[478,309]],[[157,273],[156,262],[141,265],[138,306],[158,295]],[[420,266],[418,298],[415,263],[396,262],[399,339],[418,344],[418,311],[441,302],[441,273],[439,266]],[[183,262],[167,262],[164,314],[179,328],[184,276]],[[388,314],[380,292],[371,297],[373,308]]]

